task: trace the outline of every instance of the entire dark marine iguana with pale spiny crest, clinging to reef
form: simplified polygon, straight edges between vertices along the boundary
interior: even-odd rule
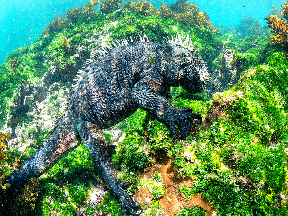
[[[167,100],[172,98],[170,87],[182,86],[187,92],[200,93],[211,77],[188,35],[183,43],[180,35],[175,42],[173,36],[171,41],[165,38],[166,43],[156,43],[146,35],[130,36],[129,43],[127,39],[111,41],[107,51],[98,50],[99,55],[88,59],[78,71],[66,111],[45,146],[9,175],[12,190],[20,190],[33,176],[40,177],[83,141],[101,177],[119,198],[123,215],[141,213],[139,204],[123,189],[130,183],[119,179],[102,129],[140,107],[164,122],[173,137],[178,125],[181,139],[185,139],[191,126],[188,119],[201,123],[202,118],[190,107],[173,107]]]

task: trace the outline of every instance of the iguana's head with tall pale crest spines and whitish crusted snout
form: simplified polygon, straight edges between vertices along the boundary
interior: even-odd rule
[[[171,61],[167,66],[166,78],[169,80],[176,78],[175,86],[182,86],[185,91],[194,94],[202,92],[211,77],[204,61],[197,54],[198,50],[195,50],[195,44],[192,46],[191,39],[188,43],[188,37],[187,35],[183,43],[180,36],[178,38],[176,36],[175,43],[173,37],[171,42],[168,39],[173,51]]]

